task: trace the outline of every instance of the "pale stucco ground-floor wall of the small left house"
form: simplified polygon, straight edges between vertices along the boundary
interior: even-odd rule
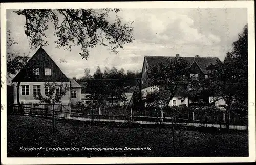
[[[56,82],[57,85],[60,85],[61,82]],[[64,82],[65,84],[69,85],[69,82]],[[17,83],[14,83],[14,101],[17,102]],[[29,85],[29,95],[22,95],[22,85]],[[29,103],[39,103],[39,100],[34,99],[33,96],[33,85],[40,85],[41,86],[41,95],[45,96],[45,82],[21,82],[19,86],[19,101],[20,102],[29,102]],[[62,103],[70,103],[70,92],[68,91],[63,97],[62,97]]]

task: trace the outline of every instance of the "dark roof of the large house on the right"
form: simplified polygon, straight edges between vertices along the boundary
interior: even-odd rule
[[[159,62],[163,62],[166,63],[167,59],[172,59],[174,60],[176,58],[176,56],[145,56],[146,61],[148,63],[149,66],[155,65]],[[202,70],[203,73],[207,73],[206,68],[210,65],[213,64],[215,65],[216,62],[220,59],[218,57],[180,57],[181,59],[185,59],[188,62],[188,65],[193,64],[193,62],[195,61],[199,68]]]

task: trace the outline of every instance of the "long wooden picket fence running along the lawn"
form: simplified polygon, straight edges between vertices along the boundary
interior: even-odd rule
[[[127,122],[130,120],[141,124],[156,124],[156,122],[164,122],[171,124],[172,113],[167,111],[152,111],[152,110],[119,110],[119,109],[93,109],[89,107],[81,108],[71,106],[71,110],[63,110],[60,107],[67,105],[54,105],[56,119],[73,119],[81,121],[103,121],[103,122]],[[75,107],[75,108],[74,108]],[[22,114],[27,116],[52,118],[52,106],[39,103],[22,103],[22,111],[18,111],[18,105],[13,104],[11,114]],[[177,124],[190,125],[196,127],[217,127],[225,128],[226,119],[224,112],[215,114],[207,114],[202,112],[184,111],[178,116]],[[230,115],[230,129],[248,129],[248,119],[236,114]]]

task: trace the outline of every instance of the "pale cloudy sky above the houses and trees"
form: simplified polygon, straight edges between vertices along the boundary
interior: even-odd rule
[[[84,69],[93,74],[99,66],[113,66],[125,71],[141,70],[144,56],[190,56],[224,57],[238,39],[247,23],[246,8],[190,8],[190,9],[122,9],[118,14],[123,22],[133,22],[134,41],[125,44],[118,54],[110,53],[104,46],[90,50],[89,58],[82,59],[81,49],[71,51],[58,49],[54,44],[52,27],[46,32],[49,45],[45,51],[69,78],[80,78]],[[114,15],[111,15],[114,18]],[[7,30],[18,44],[13,51],[32,57],[24,33],[25,17],[7,10]],[[65,59],[66,62],[61,62]]]

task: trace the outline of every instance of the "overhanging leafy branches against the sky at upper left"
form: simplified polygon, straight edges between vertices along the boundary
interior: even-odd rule
[[[117,16],[120,9],[22,9],[14,11],[26,18],[25,34],[32,49],[48,45],[46,30],[53,23],[54,43],[71,51],[72,46],[80,46],[82,58],[89,57],[89,48],[100,44],[117,53],[125,43],[131,43],[133,27],[131,22],[122,23]],[[114,22],[108,20],[109,13],[115,13]]]

